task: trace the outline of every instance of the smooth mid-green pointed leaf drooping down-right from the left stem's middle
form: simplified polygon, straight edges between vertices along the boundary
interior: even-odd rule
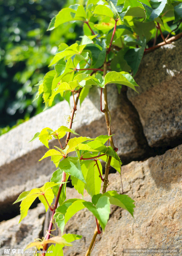
[[[85,179],[83,177],[81,167],[79,166],[77,162],[77,157],[68,157],[63,159],[59,163],[59,168],[63,170],[64,172],[70,174],[71,176],[74,176],[75,178],[81,180],[82,182],[85,182]]]

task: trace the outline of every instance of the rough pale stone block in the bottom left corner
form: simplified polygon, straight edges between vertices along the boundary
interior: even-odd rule
[[[28,211],[27,217],[25,217],[20,224],[20,215],[13,219],[2,221],[0,223],[0,254],[4,254],[4,249],[17,249],[17,253],[8,255],[20,255],[18,249],[25,249],[27,244],[34,242],[36,238],[42,238],[43,236],[43,222],[45,219],[45,207],[38,204],[35,209]],[[31,249],[30,249],[31,250]],[[23,253],[23,255],[33,255],[32,253]]]

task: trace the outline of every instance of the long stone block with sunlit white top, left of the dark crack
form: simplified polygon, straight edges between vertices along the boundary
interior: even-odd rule
[[[99,88],[93,88],[82,106],[77,106],[73,129],[81,136],[94,138],[107,134],[105,117],[100,111],[99,93]],[[127,100],[126,93],[118,96],[115,85],[108,86],[108,99],[112,129],[119,147],[118,154],[122,155],[123,159],[141,156],[145,153],[147,142],[142,138],[142,127],[136,110]],[[18,204],[12,206],[12,202],[22,191],[43,186],[49,181],[56,167],[50,162],[50,158],[38,162],[47,148],[42,146],[39,140],[27,142],[44,127],[56,130],[61,125],[67,125],[64,116],[71,114],[70,111],[68,102],[60,102],[0,137],[0,220],[3,220],[5,213],[6,219],[13,214],[13,217],[16,216]],[[61,142],[64,144],[65,138]],[[53,139],[49,147],[53,148],[54,145],[59,146],[58,141]]]

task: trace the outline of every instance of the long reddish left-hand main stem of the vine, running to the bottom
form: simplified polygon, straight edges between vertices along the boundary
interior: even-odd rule
[[[75,100],[75,104],[76,104],[76,105],[77,105],[77,103],[78,103],[81,90],[82,90],[82,88],[80,88],[80,89],[78,90],[78,92],[77,92],[77,96],[76,96],[76,100]],[[72,112],[71,112],[71,121],[70,121],[70,124],[69,124],[69,129],[71,129],[71,127],[72,127],[74,113],[75,113],[75,106],[73,107]],[[69,139],[70,139],[70,135],[71,135],[71,133],[68,132],[68,133],[67,133],[67,139],[66,139],[65,147],[66,147],[67,144],[68,144],[68,141],[69,141]],[[66,182],[66,174],[65,174],[65,172],[62,172],[62,182]],[[55,204],[54,204],[53,214],[52,214],[52,216],[51,216],[51,220],[50,220],[50,224],[49,224],[49,228],[48,228],[48,234],[47,234],[47,236],[46,236],[46,239],[49,239],[49,238],[50,238],[50,233],[51,233],[51,230],[52,230],[52,228],[53,228],[53,216],[54,216],[55,211],[56,211],[57,206],[58,206],[58,202],[59,202],[59,198],[60,198],[60,195],[61,195],[62,187],[63,187],[63,184],[60,184],[60,187],[59,187],[59,190],[58,190],[58,194],[57,194],[57,197],[56,197],[56,201],[55,201]],[[43,251],[46,251],[46,250],[47,250],[47,246],[48,246],[48,244],[45,244],[45,245],[44,245]],[[45,256],[45,252],[43,252],[42,256]]]

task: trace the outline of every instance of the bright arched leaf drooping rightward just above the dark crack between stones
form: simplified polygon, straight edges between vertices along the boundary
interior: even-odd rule
[[[126,56],[126,55],[125,55]],[[132,88],[134,91],[136,91],[135,86],[138,86],[137,84],[134,85],[131,83],[131,81],[128,81],[128,79],[125,77],[125,72],[115,72],[111,71],[106,74],[103,83],[109,84],[109,83],[118,83],[118,84],[123,84],[126,85],[130,88]]]

